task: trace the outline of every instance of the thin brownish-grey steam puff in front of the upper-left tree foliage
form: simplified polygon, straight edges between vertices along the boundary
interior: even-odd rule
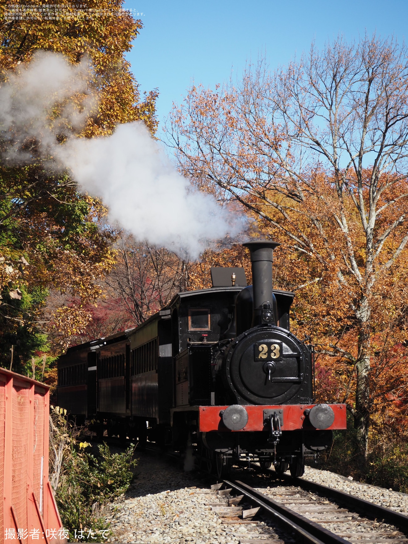
[[[83,59],[71,65],[57,53],[40,51],[28,65],[17,66],[6,74],[0,87],[0,131],[8,140],[8,159],[29,162],[27,139],[41,141],[42,152],[53,151],[58,145],[56,135],[70,132],[68,126],[79,128],[84,121],[92,96],[89,93],[89,66]],[[73,108],[74,95],[83,94],[83,112]],[[52,108],[59,115],[52,120]],[[71,131],[72,132],[72,131]]]

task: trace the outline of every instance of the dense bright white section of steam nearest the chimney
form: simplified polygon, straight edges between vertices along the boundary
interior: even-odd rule
[[[59,157],[141,240],[197,256],[206,239],[236,229],[213,196],[193,190],[176,171],[142,122],[120,125],[107,138],[72,139]]]

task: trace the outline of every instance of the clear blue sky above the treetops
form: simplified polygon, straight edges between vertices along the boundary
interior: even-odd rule
[[[274,68],[339,33],[358,40],[367,29],[401,42],[408,22],[407,0],[126,0],[124,7],[144,23],[127,59],[141,91],[158,88],[160,122],[193,80],[213,88],[259,53]]]

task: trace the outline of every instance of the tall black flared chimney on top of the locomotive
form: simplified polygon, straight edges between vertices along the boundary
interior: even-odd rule
[[[243,244],[251,254],[252,289],[254,293],[253,327],[263,323],[275,323],[273,316],[272,263],[274,248],[278,245],[281,244],[269,242],[268,240]]]

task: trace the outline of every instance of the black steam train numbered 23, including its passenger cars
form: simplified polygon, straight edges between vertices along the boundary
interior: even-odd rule
[[[58,403],[102,437],[193,454],[218,476],[258,460],[293,477],[346,428],[342,404],[314,404],[312,348],[289,331],[294,293],[272,286],[275,242],[244,244],[243,269],[212,269],[213,287],[178,293],[145,323],[69,348]],[[232,272],[232,274],[231,274]]]

